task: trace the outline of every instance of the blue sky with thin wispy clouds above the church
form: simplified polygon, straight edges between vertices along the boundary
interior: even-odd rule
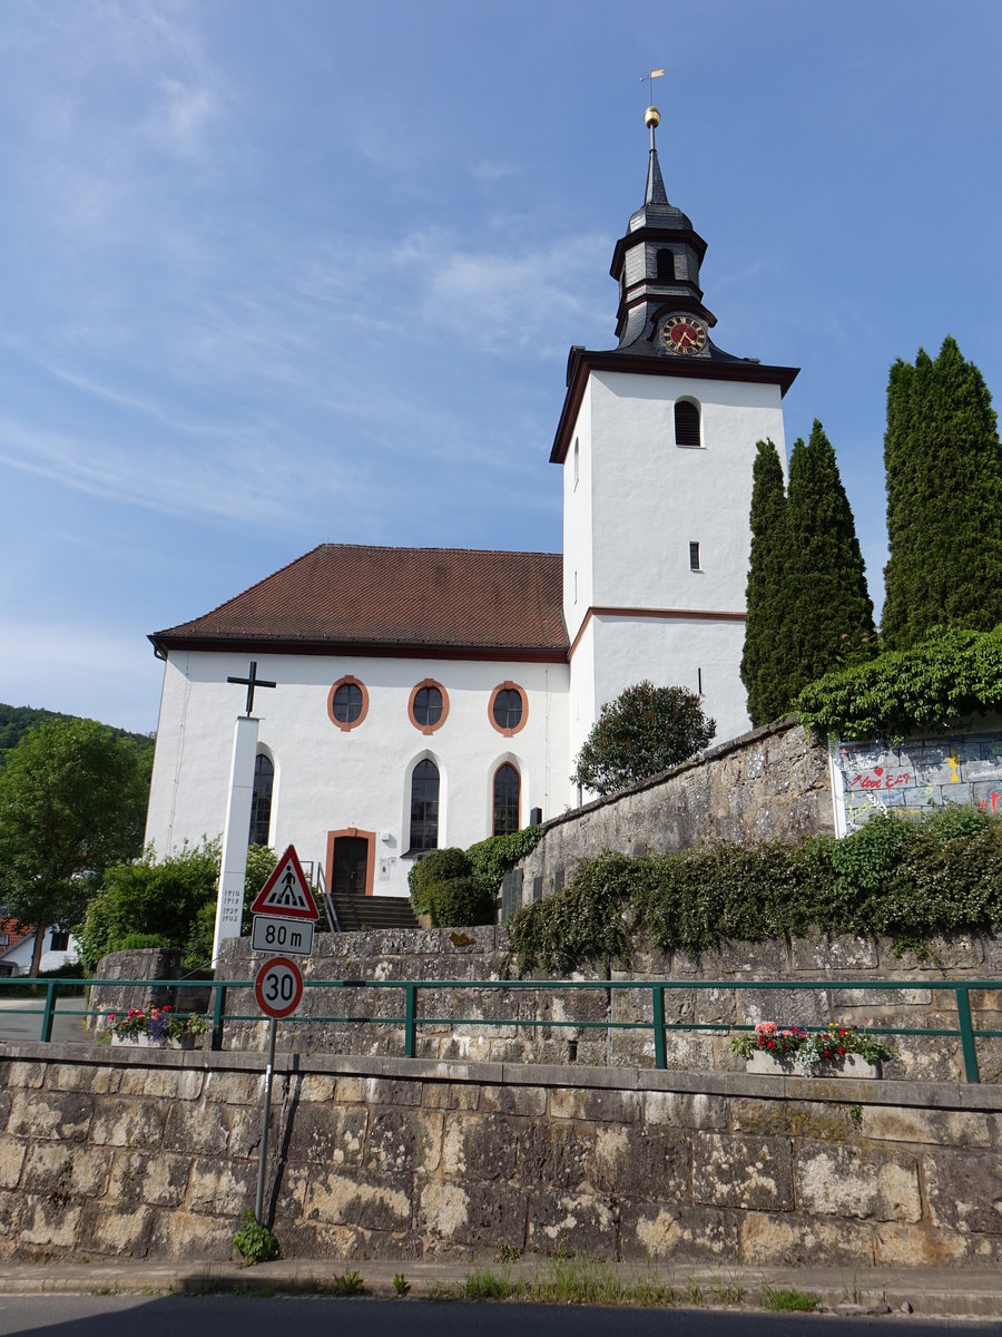
[[[0,701],[151,730],[147,632],[319,541],[558,550],[651,63],[715,338],[802,368],[879,607],[890,364],[1002,394],[1001,57],[985,0],[8,0]]]

